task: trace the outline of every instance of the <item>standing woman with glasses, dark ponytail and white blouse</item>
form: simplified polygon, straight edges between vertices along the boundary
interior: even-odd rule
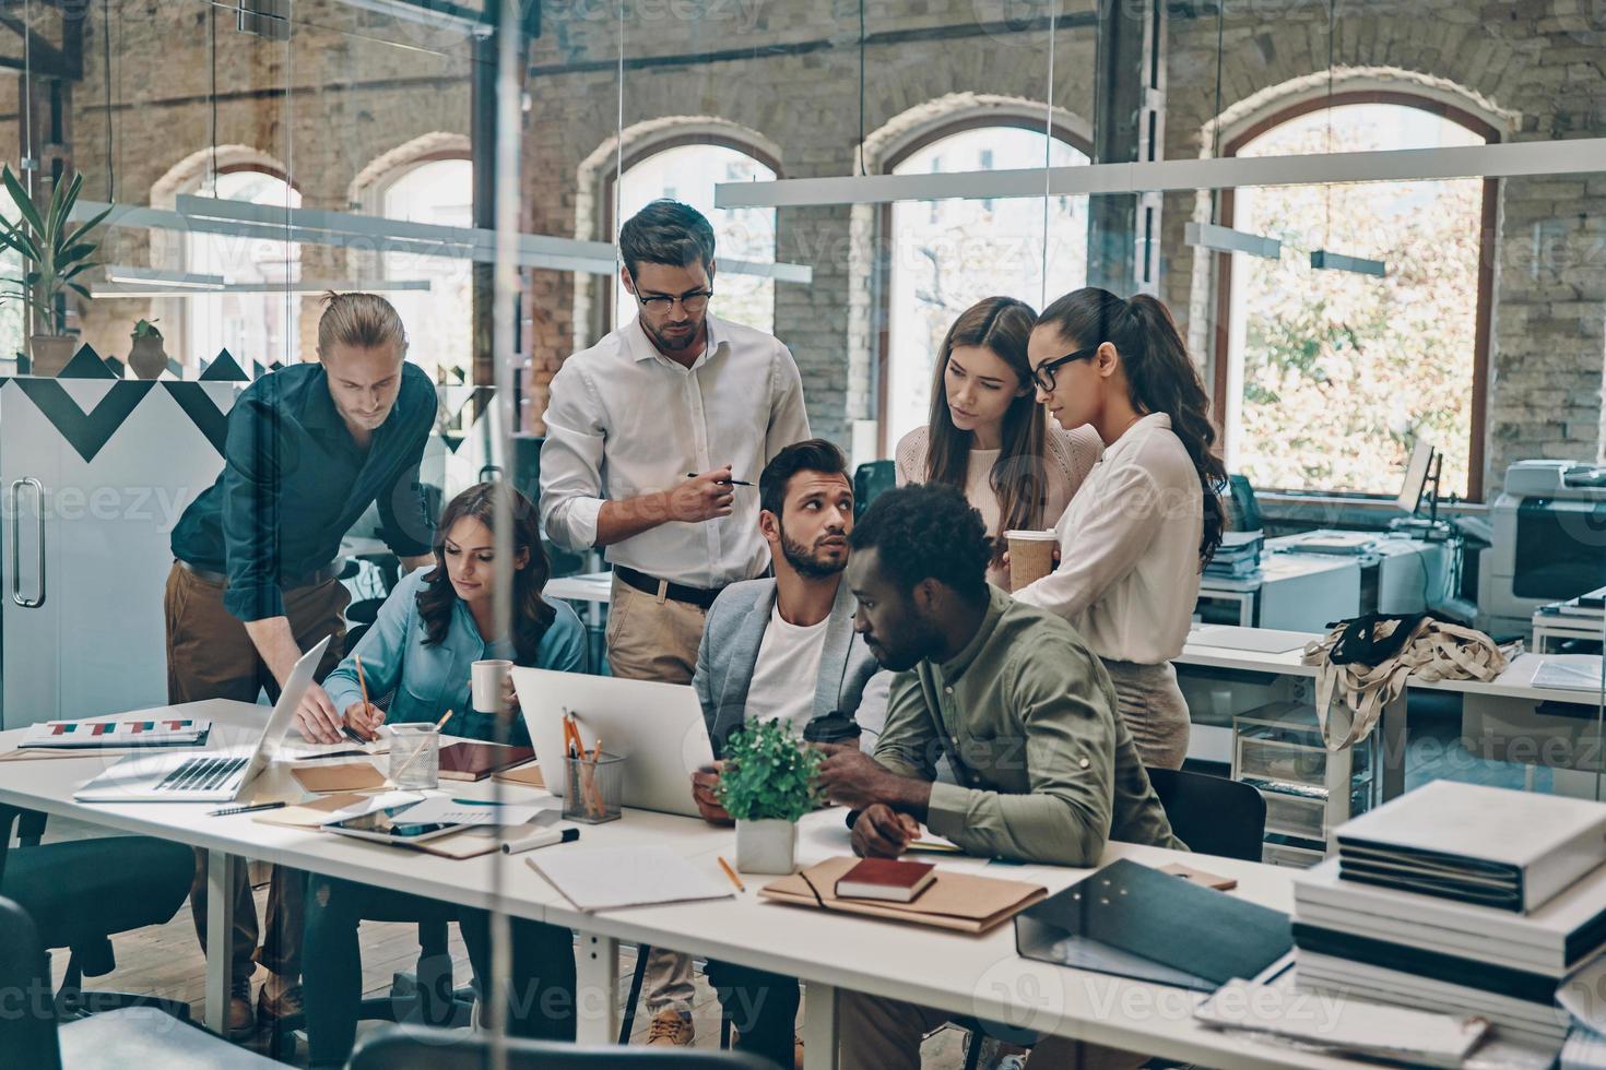
[[[1066,294],[1029,355],[1037,399],[1060,427],[1099,432],[1105,454],[1060,518],[1058,568],[1015,597],[1087,638],[1143,764],[1180,768],[1188,709],[1171,659],[1221,544],[1227,481],[1204,387],[1171,313],[1142,294]]]

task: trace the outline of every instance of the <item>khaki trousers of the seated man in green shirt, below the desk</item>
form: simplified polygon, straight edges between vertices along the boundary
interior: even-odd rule
[[[838,1003],[842,1070],[920,1070],[920,1040],[954,1015],[901,999],[845,991]],[[973,1036],[970,1043],[981,1043]],[[1031,1048],[1028,1067],[1039,1070],[1134,1070],[1147,1056],[1063,1036],[1046,1036]]]

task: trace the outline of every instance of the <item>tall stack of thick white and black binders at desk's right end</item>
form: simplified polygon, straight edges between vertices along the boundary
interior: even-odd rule
[[[1606,946],[1606,805],[1433,781],[1336,836],[1294,882],[1301,988],[1561,1046],[1556,988]]]

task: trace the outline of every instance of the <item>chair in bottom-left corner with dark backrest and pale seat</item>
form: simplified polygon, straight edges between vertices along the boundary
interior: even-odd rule
[[[270,1070],[279,1065],[151,1006],[58,1023],[50,959],[34,919],[10,898],[0,898],[0,991],[22,996],[8,999],[6,1012],[0,1014],[0,1064],[6,1067]]]

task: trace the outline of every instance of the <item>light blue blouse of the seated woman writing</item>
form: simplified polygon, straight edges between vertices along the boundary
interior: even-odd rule
[[[342,714],[352,703],[360,703],[363,693],[357,682],[355,658],[361,656],[368,699],[385,711],[387,723],[434,722],[450,709],[453,715],[442,728],[443,733],[491,740],[496,732],[495,714],[471,706],[471,666],[485,658],[517,661],[512,642],[487,643],[474,624],[469,606],[458,598],[451,606],[446,637],[437,645],[426,645],[418,592],[424,576],[432,571],[434,568],[416,568],[397,584],[379,606],[374,626],[358,640],[357,650],[324,679],[323,687]],[[560,602],[551,605],[557,616],[541,635],[533,667],[581,672],[586,648],[585,626],[567,605]],[[389,703],[385,696],[392,696]],[[522,717],[514,720],[509,741],[519,746],[530,744]]]

